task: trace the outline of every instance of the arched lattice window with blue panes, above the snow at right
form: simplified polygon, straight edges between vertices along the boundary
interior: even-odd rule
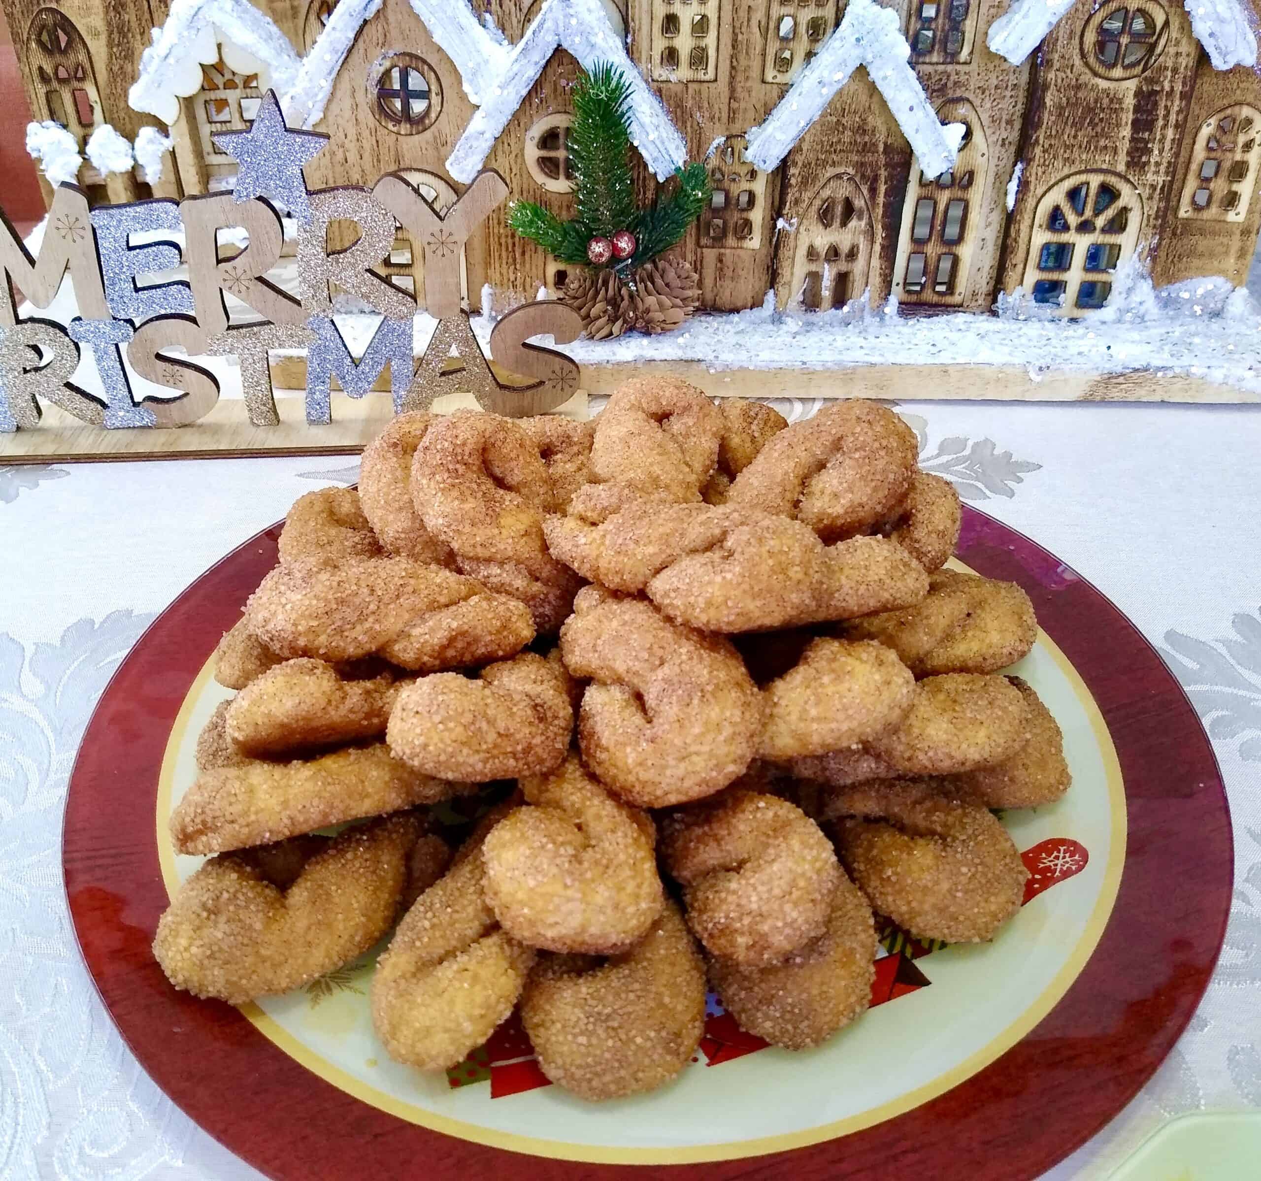
[[[1079,316],[1102,308],[1112,272],[1139,245],[1142,198],[1120,173],[1073,173],[1038,202],[1024,289],[1035,302]]]

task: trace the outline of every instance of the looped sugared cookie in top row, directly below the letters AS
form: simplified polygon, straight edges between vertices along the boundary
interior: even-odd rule
[[[498,415],[441,418],[416,447],[411,494],[463,573],[523,602],[541,633],[564,623],[579,579],[543,542],[543,514],[564,497],[530,431]]]

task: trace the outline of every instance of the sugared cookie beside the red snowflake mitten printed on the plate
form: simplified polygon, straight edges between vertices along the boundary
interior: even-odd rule
[[[830,800],[845,868],[871,905],[921,939],[992,939],[1019,909],[1029,871],[982,804],[931,784],[847,788]]]

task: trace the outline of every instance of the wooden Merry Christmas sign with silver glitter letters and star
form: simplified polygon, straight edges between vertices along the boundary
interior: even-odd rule
[[[527,343],[540,334],[560,344],[578,339],[576,311],[537,301],[496,324],[491,359],[525,379],[504,384],[460,306],[464,243],[508,194],[498,173],[478,174],[441,214],[400,174],[382,176],[371,189],[310,192],[303,165],[324,147],[327,136],[290,130],[270,92],[250,130],[221,132],[216,142],[238,164],[231,193],[90,209],[79,188],[63,184],[35,257],[4,218],[0,431],[37,427],[43,402],[107,430],[189,426],[219,400],[218,379],[194,362],[198,357],[236,357],[242,416],[248,415],[256,427],[276,426],[274,350],[305,350],[305,417],[313,425],[330,421],[334,379],[347,395],[362,398],[387,372],[395,413],[425,410],[435,398],[456,392],[472,393],[484,410],[498,413],[540,413],[561,406],[578,389],[579,368],[569,357]],[[300,297],[265,277],[284,246],[281,212],[296,226]],[[358,237],[352,245],[329,247],[334,222],[353,224]],[[419,359],[412,349],[417,300],[373,271],[390,256],[398,227],[415,250],[424,250],[422,306],[438,320]],[[232,257],[222,257],[223,231],[246,234],[247,245]],[[139,282],[182,263],[187,280]],[[39,316],[19,319],[18,292],[35,309],[48,309],[67,271],[78,313],[68,325]],[[381,318],[358,357],[334,323],[334,290]],[[230,324],[227,295],[257,319]],[[91,352],[100,374],[100,395],[72,381],[83,349]],[[453,369],[453,357],[460,368]],[[164,396],[136,401],[129,368],[164,387]]]

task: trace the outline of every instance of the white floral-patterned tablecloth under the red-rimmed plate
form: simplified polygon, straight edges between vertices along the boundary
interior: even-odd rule
[[[778,401],[791,418],[817,402]],[[1048,1173],[1105,1178],[1168,1117],[1261,1107],[1261,411],[907,403],[921,463],[1108,595],[1187,687],[1222,764],[1236,891],[1178,1047]],[[79,962],[61,877],[77,744],[146,624],[338,459],[0,466],[0,1177],[259,1175],[122,1045]]]

